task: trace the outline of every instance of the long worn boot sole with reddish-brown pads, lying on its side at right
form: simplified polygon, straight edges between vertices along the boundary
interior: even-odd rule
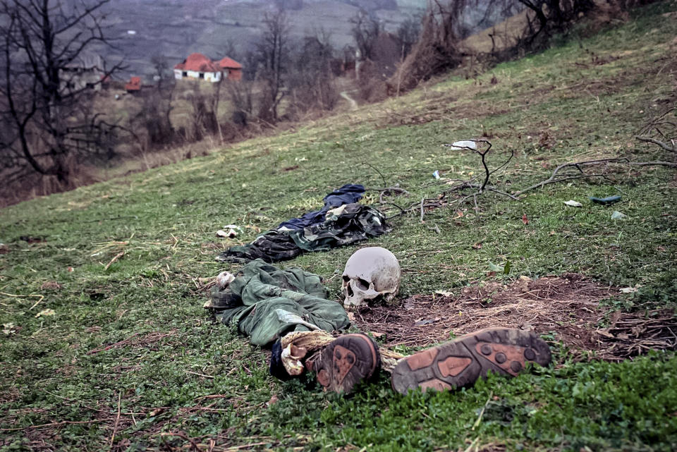
[[[393,389],[463,388],[489,372],[516,376],[527,362],[550,362],[548,344],[532,331],[487,328],[403,358],[393,370]]]

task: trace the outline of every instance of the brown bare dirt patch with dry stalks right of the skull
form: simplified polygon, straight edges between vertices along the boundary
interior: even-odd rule
[[[677,348],[673,310],[612,312],[599,305],[618,295],[578,274],[520,278],[509,286],[485,283],[458,295],[414,295],[399,306],[355,313],[355,324],[386,346],[427,346],[482,328],[508,326],[551,334],[573,353],[594,352],[599,359],[623,360],[647,350]],[[606,328],[601,326],[606,325]]]

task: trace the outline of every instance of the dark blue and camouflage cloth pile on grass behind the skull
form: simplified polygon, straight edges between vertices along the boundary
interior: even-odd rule
[[[233,246],[217,260],[278,262],[306,251],[324,251],[389,232],[384,214],[358,204],[363,185],[346,184],[324,197],[324,207],[299,218],[283,221],[247,245]]]

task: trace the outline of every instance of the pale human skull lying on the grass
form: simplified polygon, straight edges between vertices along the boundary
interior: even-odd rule
[[[361,248],[343,270],[343,306],[364,306],[381,298],[389,302],[400,287],[400,264],[393,253],[381,247]]]

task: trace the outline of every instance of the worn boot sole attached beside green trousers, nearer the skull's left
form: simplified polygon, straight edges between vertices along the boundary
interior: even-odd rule
[[[359,381],[376,374],[381,367],[381,355],[369,336],[346,334],[325,346],[310,367],[325,391],[347,394]]]

